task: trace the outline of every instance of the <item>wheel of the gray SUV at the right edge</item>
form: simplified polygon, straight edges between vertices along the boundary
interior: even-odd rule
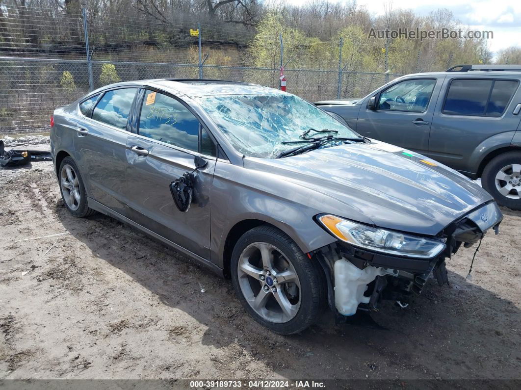
[[[494,157],[483,170],[481,184],[499,205],[521,210],[521,152]]]

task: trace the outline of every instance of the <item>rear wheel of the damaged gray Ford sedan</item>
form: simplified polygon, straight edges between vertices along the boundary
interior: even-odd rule
[[[70,213],[77,218],[93,215],[95,211],[87,204],[87,193],[76,162],[71,157],[65,157],[58,172],[61,198]]]

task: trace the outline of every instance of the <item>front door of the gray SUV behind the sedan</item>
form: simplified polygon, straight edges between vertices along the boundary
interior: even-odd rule
[[[356,131],[379,141],[427,154],[436,97],[443,80],[414,78],[391,84],[376,94],[376,109],[369,96],[362,102]]]

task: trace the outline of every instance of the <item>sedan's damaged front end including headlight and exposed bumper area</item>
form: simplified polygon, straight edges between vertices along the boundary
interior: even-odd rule
[[[445,260],[450,259],[462,245],[467,248],[480,241],[491,228],[498,234],[503,219],[497,204],[490,202],[455,220],[436,237],[416,237],[417,242],[409,243],[405,248],[409,255],[400,256],[392,253],[393,242],[394,248],[402,248],[413,236],[390,232],[390,238],[382,237],[381,231],[388,231],[364,227],[368,232],[374,232],[373,238],[367,238],[358,234],[355,228],[335,230],[339,224],[332,228],[323,222],[324,217],[333,216],[318,216],[317,220],[339,240],[315,251],[315,255],[326,273],[329,306],[341,314],[339,318],[352,316],[357,310],[378,311],[381,300],[392,300],[405,307],[412,295],[421,293],[431,275],[440,286],[449,284]],[[391,250],[387,252],[392,254],[384,253],[375,242],[382,243],[382,247],[388,244]],[[420,246],[423,246],[421,250]],[[431,254],[435,255],[429,257]]]

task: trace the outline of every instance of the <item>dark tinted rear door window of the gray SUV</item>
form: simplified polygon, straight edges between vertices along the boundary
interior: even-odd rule
[[[443,114],[500,117],[517,89],[514,80],[452,80]]]

